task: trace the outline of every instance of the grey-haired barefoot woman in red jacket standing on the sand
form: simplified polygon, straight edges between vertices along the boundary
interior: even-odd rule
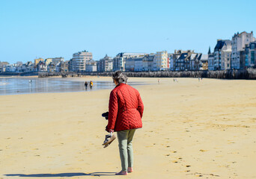
[[[118,71],[112,78],[116,87],[109,97],[109,123],[106,131],[117,131],[122,170],[116,175],[127,175],[127,172],[133,171],[132,138],[135,130],[142,128],[144,106],[138,90],[127,84],[126,75]]]

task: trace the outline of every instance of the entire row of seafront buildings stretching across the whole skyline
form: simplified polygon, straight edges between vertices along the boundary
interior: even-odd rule
[[[232,40],[217,40],[213,52],[196,53],[193,50],[175,50],[156,53],[121,52],[115,57],[107,54],[102,59],[93,60],[89,51],[79,51],[72,59],[64,61],[63,57],[38,58],[34,63],[16,63],[9,65],[0,62],[0,72],[127,72],[147,71],[188,71],[188,70],[224,70],[245,69],[256,66],[256,40],[253,32],[234,34]]]

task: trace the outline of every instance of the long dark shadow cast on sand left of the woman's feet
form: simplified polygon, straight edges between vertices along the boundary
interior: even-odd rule
[[[50,178],[50,177],[75,177],[75,176],[112,176],[115,172],[93,172],[93,173],[59,173],[59,174],[7,174],[7,177],[34,177],[34,178]]]

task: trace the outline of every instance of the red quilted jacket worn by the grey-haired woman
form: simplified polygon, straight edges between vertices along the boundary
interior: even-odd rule
[[[144,106],[138,90],[128,84],[118,84],[109,97],[109,124],[106,131],[142,128]]]

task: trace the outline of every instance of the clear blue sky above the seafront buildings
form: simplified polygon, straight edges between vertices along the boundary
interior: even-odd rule
[[[0,0],[0,61],[194,49],[256,33],[255,0]]]

